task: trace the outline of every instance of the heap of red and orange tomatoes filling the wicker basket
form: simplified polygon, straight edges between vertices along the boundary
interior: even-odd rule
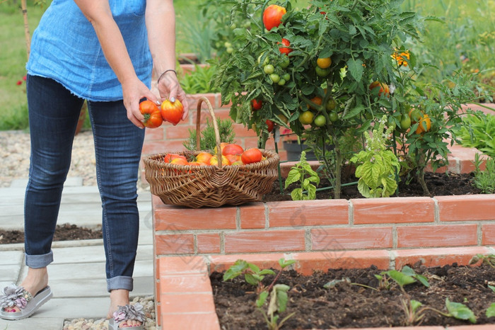
[[[240,147],[238,144],[225,142],[222,142],[220,147],[221,164],[223,166],[252,164],[266,159],[261,150],[257,148],[244,150],[243,147]],[[209,152],[199,152],[194,159],[190,160],[181,154],[165,154],[163,161],[170,164],[192,166],[217,166],[219,164],[216,147],[213,154]]]

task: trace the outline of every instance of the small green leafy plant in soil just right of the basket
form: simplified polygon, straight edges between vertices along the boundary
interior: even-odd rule
[[[292,200],[314,200],[316,198],[316,186],[320,183],[320,177],[306,161],[305,151],[301,152],[299,162],[291,167],[285,181],[285,188],[296,182],[299,182],[300,186],[291,191]]]

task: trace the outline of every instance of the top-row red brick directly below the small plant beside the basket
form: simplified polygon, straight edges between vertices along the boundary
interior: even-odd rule
[[[294,200],[267,203],[269,227],[349,223],[347,200]]]

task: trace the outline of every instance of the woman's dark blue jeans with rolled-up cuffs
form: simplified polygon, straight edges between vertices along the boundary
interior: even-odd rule
[[[31,157],[25,192],[26,265],[53,261],[52,239],[83,99],[40,76],[27,80]],[[139,234],[136,183],[144,130],[127,119],[122,101],[88,102],[96,175],[103,207],[107,290],[132,290]]]

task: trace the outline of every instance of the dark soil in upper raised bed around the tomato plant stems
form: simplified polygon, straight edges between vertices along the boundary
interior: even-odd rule
[[[426,172],[424,175],[424,179],[426,181],[426,186],[430,190],[431,196],[443,196],[443,195],[474,195],[481,193],[479,188],[476,188],[472,185],[472,179],[474,178],[472,173],[465,174],[455,174],[449,173],[448,175],[445,173],[431,173]],[[356,183],[357,179],[354,175],[348,176],[342,180],[343,183]],[[282,186],[284,186],[284,182],[282,181]],[[322,188],[330,186],[328,181],[321,181],[317,188]],[[291,190],[297,188],[297,184],[293,183],[289,188],[284,189],[284,193],[280,193],[280,185],[279,181],[276,180],[273,183],[272,191],[266,195],[264,195],[264,202],[274,202],[281,200],[291,200]],[[423,189],[417,183],[417,180],[414,178],[409,183],[405,178],[401,179],[399,183],[399,188],[397,189],[397,194],[390,197],[419,197],[423,196]],[[333,190],[322,190],[316,193],[316,199],[328,199],[333,198]],[[351,198],[363,198],[361,193],[359,193],[357,184],[351,184],[350,186],[342,187],[342,199],[351,199]]]

